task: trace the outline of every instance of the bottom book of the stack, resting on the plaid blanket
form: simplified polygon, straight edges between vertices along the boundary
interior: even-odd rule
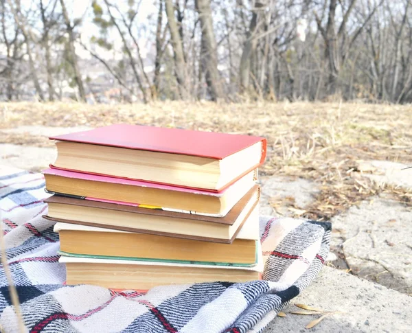
[[[263,271],[260,250],[258,264],[251,267],[109,260],[65,255],[60,257],[59,262],[66,265],[66,284],[94,284],[105,288],[135,290],[148,290],[168,284],[248,282],[261,279]]]

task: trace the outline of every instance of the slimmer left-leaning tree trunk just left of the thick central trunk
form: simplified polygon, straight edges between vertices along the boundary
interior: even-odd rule
[[[174,53],[174,67],[176,73],[176,80],[179,87],[179,94],[183,100],[190,98],[187,92],[187,71],[185,55],[183,53],[183,45],[181,36],[179,34],[179,27],[174,17],[174,5],[172,0],[165,0],[166,16],[168,16],[170,39],[172,41],[173,53]]]

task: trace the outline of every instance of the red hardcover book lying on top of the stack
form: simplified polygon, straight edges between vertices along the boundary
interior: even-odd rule
[[[119,124],[58,135],[52,168],[220,192],[266,157],[250,135]]]

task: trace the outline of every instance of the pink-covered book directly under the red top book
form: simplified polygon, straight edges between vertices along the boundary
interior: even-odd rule
[[[46,190],[52,194],[222,217],[255,185],[258,170],[249,172],[221,192],[58,169],[47,169],[43,174]]]

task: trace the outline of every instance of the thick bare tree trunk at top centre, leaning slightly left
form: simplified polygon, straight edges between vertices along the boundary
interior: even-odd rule
[[[211,20],[209,0],[196,0],[196,10],[199,14],[202,28],[203,57],[205,57],[206,82],[211,100],[218,100],[223,96],[222,84],[218,71],[218,54],[216,38]]]

